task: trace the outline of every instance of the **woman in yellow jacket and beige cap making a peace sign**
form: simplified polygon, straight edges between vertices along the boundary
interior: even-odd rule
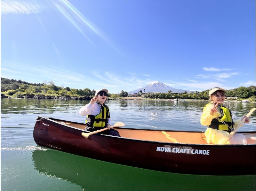
[[[224,139],[228,137],[232,129],[236,128],[238,123],[245,118],[244,123],[249,123],[250,118],[244,116],[241,120],[232,120],[232,113],[222,104],[225,100],[225,89],[213,88],[209,91],[212,100],[204,106],[201,116],[201,124],[208,126],[205,131],[207,143],[222,144]],[[255,137],[236,133],[228,141],[228,144],[246,144],[255,143]]]

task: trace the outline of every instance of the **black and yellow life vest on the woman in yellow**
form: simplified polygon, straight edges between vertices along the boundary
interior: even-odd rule
[[[206,104],[204,107],[206,107],[209,104],[212,104],[212,102]],[[212,122],[209,125],[209,127],[212,129],[228,131],[230,133],[231,129],[233,128],[232,113],[231,111],[229,111],[228,108],[224,107],[223,105],[218,105],[217,107],[219,107],[220,109],[221,116],[212,119]]]

